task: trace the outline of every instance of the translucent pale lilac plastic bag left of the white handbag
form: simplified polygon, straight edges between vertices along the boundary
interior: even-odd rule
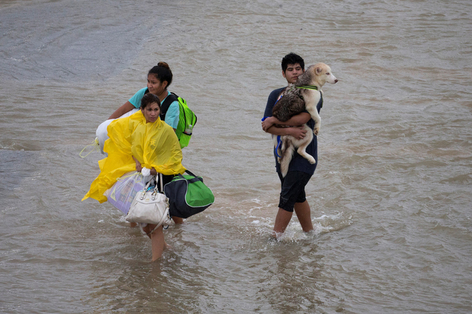
[[[117,182],[103,195],[108,198],[108,202],[126,215],[136,193],[142,191],[145,186],[143,175],[137,171],[131,171],[119,177]]]

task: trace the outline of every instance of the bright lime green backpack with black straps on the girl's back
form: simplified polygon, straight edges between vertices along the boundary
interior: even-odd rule
[[[160,119],[162,121],[164,121],[162,117],[165,116],[169,106],[171,103],[174,103],[174,101],[178,101],[178,107],[180,109],[176,134],[178,141],[180,142],[180,148],[184,148],[189,145],[190,137],[192,137],[192,132],[196,123],[196,115],[187,106],[187,101],[185,101],[184,98],[171,93],[167,98],[165,98],[165,101],[160,104]]]

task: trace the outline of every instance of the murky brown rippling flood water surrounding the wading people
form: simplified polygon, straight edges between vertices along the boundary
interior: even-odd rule
[[[472,3],[0,0],[1,313],[471,313]],[[280,60],[325,62],[315,230],[269,239],[260,119]],[[159,61],[216,201],[151,242],[81,198],[96,127]]]

